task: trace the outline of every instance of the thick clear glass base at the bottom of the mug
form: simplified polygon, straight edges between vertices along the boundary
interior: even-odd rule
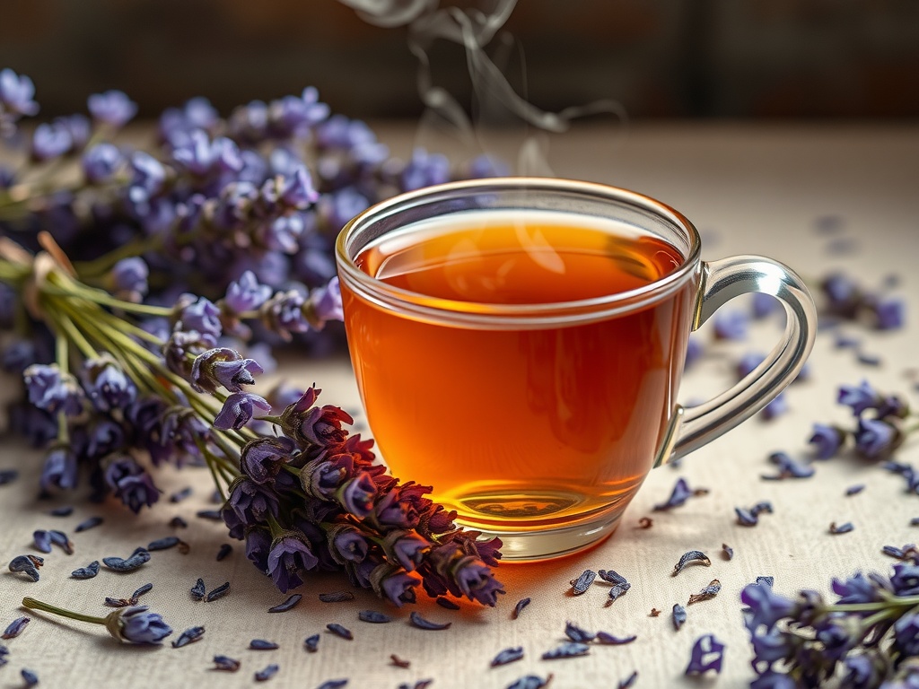
[[[616,531],[623,512],[621,508],[616,508],[573,525],[528,531],[497,530],[462,517],[458,517],[456,522],[465,528],[481,531],[482,537],[501,538],[502,562],[537,562],[573,555],[599,545]]]

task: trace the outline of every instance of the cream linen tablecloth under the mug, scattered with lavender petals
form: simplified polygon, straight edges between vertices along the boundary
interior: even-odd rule
[[[413,139],[408,128],[380,128],[384,141],[397,152],[408,150]],[[270,582],[244,558],[233,542],[233,554],[215,559],[229,542],[223,526],[194,516],[210,503],[210,476],[205,470],[165,470],[157,479],[165,496],[185,486],[194,495],[185,503],[165,500],[139,517],[126,514],[115,503],[75,503],[69,517],[49,515],[53,503],[35,499],[41,455],[5,437],[0,469],[18,468],[17,482],[0,487],[0,627],[23,611],[24,595],[103,615],[106,596],[129,595],[145,582],[153,590],[142,598],[175,628],[203,626],[204,638],[186,648],[121,646],[101,627],[91,627],[51,616],[29,613],[31,623],[19,638],[8,640],[9,663],[0,668],[0,686],[22,684],[23,667],[38,672],[41,686],[224,687],[255,683],[254,672],[269,663],[280,670],[268,686],[317,687],[324,681],[348,678],[349,687],[413,686],[432,678],[432,687],[494,687],[503,689],[517,677],[554,674],[552,689],[615,687],[630,672],[639,672],[638,687],[740,687],[753,678],[752,653],[741,619],[739,593],[758,575],[775,577],[779,593],[800,588],[829,592],[832,577],[856,570],[889,571],[892,560],[880,553],[885,544],[901,546],[917,540],[919,496],[906,494],[902,479],[852,457],[819,463],[808,480],[765,481],[772,473],[766,457],[784,449],[807,457],[807,438],[813,421],[850,422],[845,408],[834,403],[840,384],[862,378],[881,390],[905,393],[915,403],[910,369],[916,362],[919,319],[916,297],[916,249],[919,223],[915,199],[919,193],[919,129],[907,126],[740,126],[642,125],[625,136],[596,131],[574,132],[553,143],[557,174],[625,186],[659,198],[682,210],[704,235],[703,256],[767,254],[816,278],[830,268],[842,268],[868,286],[893,273],[902,278],[899,292],[908,299],[908,326],[891,333],[871,333],[867,349],[882,359],[879,367],[857,364],[850,350],[834,348],[832,334],[818,337],[811,357],[811,376],[786,393],[789,412],[772,422],[753,419],[690,457],[679,469],[656,469],[631,504],[618,532],[601,547],[554,562],[503,566],[498,576],[507,594],[494,609],[466,605],[460,612],[424,601],[415,606],[423,615],[452,621],[448,630],[433,632],[410,627],[408,609],[396,610],[357,592],[350,603],[323,604],[317,594],[350,589],[337,577],[320,577],[301,589],[304,600],[296,609],[269,615],[267,609],[284,600]],[[817,220],[833,217],[841,225],[838,236],[856,244],[856,251],[829,251],[834,237],[815,231]],[[854,331],[855,332],[855,331]],[[684,400],[706,397],[732,380],[732,362],[750,349],[763,349],[777,338],[777,322],[758,323],[752,340],[743,344],[709,347],[710,356],[685,380]],[[868,333],[857,332],[859,336]],[[700,333],[706,343],[710,333]],[[285,365],[285,378],[323,388],[322,401],[347,410],[359,410],[357,390],[344,359],[295,362]],[[474,404],[474,401],[472,401]],[[358,414],[358,422],[361,419]],[[500,422],[495,422],[499,424]],[[487,427],[486,427],[487,431]],[[494,432],[499,428],[494,427]],[[897,457],[919,462],[916,443],[908,442]],[[686,477],[694,488],[709,494],[691,499],[668,513],[652,513],[663,502],[675,480]],[[861,493],[845,497],[845,489],[864,483]],[[754,528],[737,525],[733,508],[770,501],[775,514],[765,514]],[[105,524],[74,534],[74,526],[99,514]],[[187,518],[187,529],[168,526],[174,515]],[[639,518],[651,515],[650,529],[637,528]],[[831,522],[852,522],[852,533],[832,536]],[[76,552],[55,549],[46,557],[40,582],[31,583],[6,572],[14,556],[35,552],[32,531],[60,528],[71,534]],[[93,559],[127,557],[136,546],[177,533],[191,547],[187,555],[176,549],[153,553],[141,570],[119,575],[102,570],[89,581],[75,581],[69,573]],[[734,549],[731,561],[720,555],[721,544]],[[711,567],[693,567],[672,578],[676,560],[689,549],[709,554]],[[584,569],[613,569],[632,583],[628,594],[605,606],[606,591],[595,586],[580,597],[566,592],[568,582]],[[198,577],[213,588],[231,582],[231,592],[210,604],[194,603],[188,589]],[[714,600],[688,608],[686,626],[675,631],[670,611],[686,604],[710,580],[723,588]],[[516,620],[511,612],[517,600],[532,604]],[[411,606],[410,606],[411,607]],[[653,607],[661,616],[649,616]],[[388,625],[357,620],[357,611],[374,608],[395,616]],[[563,640],[566,620],[616,635],[637,634],[627,646],[597,647],[590,655],[562,661],[542,661],[543,651]],[[354,632],[346,641],[323,632],[338,622]],[[319,650],[307,653],[303,639],[322,633]],[[714,633],[727,649],[717,678],[701,683],[684,678],[689,650],[699,635]],[[175,636],[173,638],[176,638]],[[280,649],[247,649],[252,638],[277,641]],[[522,646],[526,657],[496,669],[489,662],[499,649]],[[411,661],[409,669],[395,667],[390,654]],[[211,671],[215,654],[242,661],[236,674]]]

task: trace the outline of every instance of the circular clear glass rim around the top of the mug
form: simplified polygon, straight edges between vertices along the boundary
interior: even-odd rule
[[[689,251],[683,263],[673,272],[640,288],[614,292],[574,301],[537,304],[494,304],[459,299],[440,299],[409,289],[393,287],[360,270],[348,254],[349,240],[356,229],[388,217],[400,207],[409,208],[425,198],[444,198],[450,192],[482,192],[509,189],[580,193],[592,198],[607,198],[626,203],[670,222],[686,232]],[[361,247],[362,248],[362,247]],[[701,240],[698,230],[678,210],[638,192],[596,182],[555,177],[505,176],[461,180],[425,186],[404,192],[370,206],[348,220],[335,240],[335,261],[339,278],[359,296],[387,310],[400,311],[408,317],[425,321],[449,322],[457,325],[517,327],[520,325],[557,325],[566,322],[589,322],[627,311],[636,311],[666,299],[690,279],[701,263]]]

